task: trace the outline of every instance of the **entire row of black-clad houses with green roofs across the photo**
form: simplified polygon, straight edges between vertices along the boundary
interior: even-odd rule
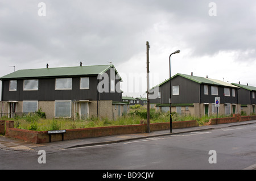
[[[2,81],[1,116],[13,117],[39,108],[47,118],[117,117],[129,106],[146,104],[146,98],[122,96],[122,78],[114,65],[18,70]],[[220,114],[255,113],[256,87],[226,83],[185,74],[171,78],[172,111],[181,115],[204,116],[216,113],[214,98],[220,97]],[[152,88],[158,98],[151,108],[170,111],[170,79]]]

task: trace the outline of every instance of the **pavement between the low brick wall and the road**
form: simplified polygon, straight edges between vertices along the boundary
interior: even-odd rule
[[[26,142],[26,141],[14,139],[14,138],[8,138],[5,136],[0,136],[0,149],[13,150],[13,151],[34,151],[34,152],[38,152],[39,150],[56,151],[60,149],[114,144],[117,142],[126,142],[131,140],[139,140],[143,138],[167,136],[167,135],[181,134],[181,133],[187,133],[187,132],[198,132],[198,131],[207,131],[207,130],[209,131],[212,129],[221,129],[221,128],[239,126],[239,125],[246,125],[246,124],[256,124],[256,120],[244,121],[244,122],[238,122],[238,123],[207,125],[207,126],[193,127],[193,128],[172,129],[172,133],[170,133],[170,130],[164,130],[164,131],[154,131],[151,133],[121,134],[121,135],[105,136],[105,137],[81,138],[77,140],[49,142],[45,144],[32,144],[30,142]]]

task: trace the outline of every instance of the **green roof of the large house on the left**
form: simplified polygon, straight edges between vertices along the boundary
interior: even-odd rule
[[[114,65],[93,65],[93,66],[75,66],[75,67],[63,67],[63,68],[26,69],[26,70],[14,71],[13,73],[10,73],[1,77],[0,79],[63,77],[63,76],[69,77],[73,75],[96,75],[96,74],[105,73],[110,68],[114,68]]]

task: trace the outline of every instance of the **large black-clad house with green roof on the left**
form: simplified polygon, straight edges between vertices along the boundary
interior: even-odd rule
[[[18,70],[2,80],[1,116],[13,117],[42,108],[47,118],[114,119],[121,103],[122,81],[114,65]],[[118,104],[117,110],[115,107]],[[122,106],[122,108],[121,108]]]

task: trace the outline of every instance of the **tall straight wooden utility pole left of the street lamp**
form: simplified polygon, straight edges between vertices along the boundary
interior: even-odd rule
[[[147,133],[150,133],[150,100],[148,98],[149,88],[149,49],[150,45],[147,41]]]

